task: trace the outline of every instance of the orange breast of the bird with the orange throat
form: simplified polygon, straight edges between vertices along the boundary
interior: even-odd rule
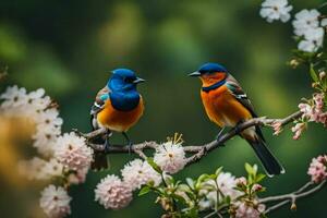
[[[226,85],[209,92],[201,92],[203,105],[209,119],[223,126],[235,126],[252,118],[250,111],[228,90]]]

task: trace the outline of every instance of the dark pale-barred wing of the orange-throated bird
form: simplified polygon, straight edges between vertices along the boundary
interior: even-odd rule
[[[251,100],[247,98],[246,94],[243,92],[242,87],[232,75],[228,75],[226,86],[235,97],[235,99],[251,112],[252,117],[257,118],[257,114],[254,111]],[[255,130],[256,133],[261,136],[261,138],[265,142],[262,130],[258,126],[256,126]]]

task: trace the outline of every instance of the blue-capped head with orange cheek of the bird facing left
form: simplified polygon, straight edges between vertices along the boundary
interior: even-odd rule
[[[205,63],[190,76],[199,77],[204,86],[210,86],[223,82],[228,76],[228,71],[219,63]]]

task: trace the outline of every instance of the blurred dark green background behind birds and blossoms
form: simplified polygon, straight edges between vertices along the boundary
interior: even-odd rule
[[[90,130],[89,107],[109,71],[128,66],[147,83],[140,86],[146,111],[130,131],[134,142],[164,142],[183,133],[185,145],[211,141],[217,128],[207,119],[199,99],[199,81],[186,76],[204,62],[219,62],[240,81],[259,116],[279,118],[296,110],[301,97],[310,97],[311,80],[305,68],[286,65],[291,23],[269,24],[258,14],[262,1],[222,0],[2,0],[0,2],[0,63],[9,66],[5,84],[29,90],[44,87],[60,105],[64,131]],[[316,8],[324,1],[292,1],[294,12]],[[3,89],[3,87],[2,87]],[[287,173],[267,179],[264,195],[287,193],[304,184],[312,157],[326,152],[326,130],[311,124],[300,141],[289,128],[279,136],[265,129],[271,150]],[[116,142],[123,142],[121,135]],[[107,173],[119,173],[134,155],[112,155],[109,171],[90,172],[85,184],[71,190],[71,217],[159,217],[155,196],[136,197],[120,211],[104,209],[94,202],[94,187]],[[177,177],[197,177],[219,166],[235,175],[244,174],[244,162],[257,162],[239,137],[210,153]],[[34,217],[28,201],[38,192],[23,194],[0,181],[1,217]],[[32,189],[32,187],[31,187]],[[269,217],[317,217],[327,215],[326,189]]]

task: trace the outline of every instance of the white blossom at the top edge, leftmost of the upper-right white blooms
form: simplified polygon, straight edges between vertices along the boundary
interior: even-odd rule
[[[262,3],[261,16],[271,23],[275,20],[280,20],[283,23],[291,17],[290,11],[292,5],[288,5],[287,0],[266,0]]]

